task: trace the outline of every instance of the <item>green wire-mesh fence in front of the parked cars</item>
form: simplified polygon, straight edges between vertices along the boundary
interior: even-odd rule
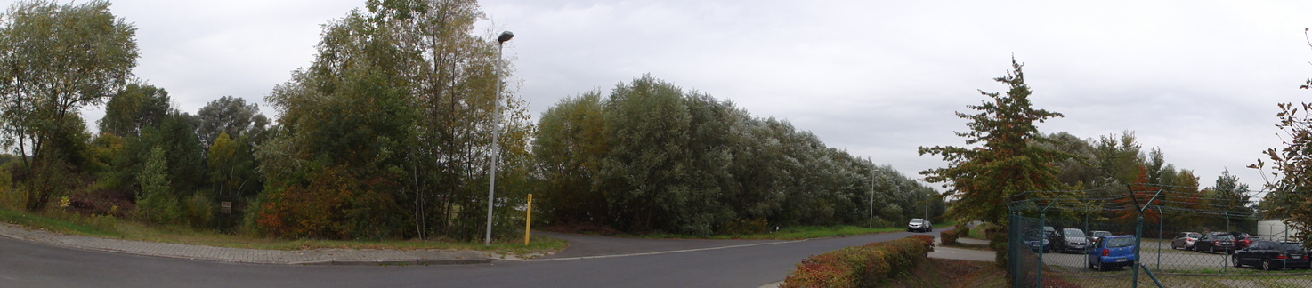
[[[1312,287],[1302,240],[1257,229],[1244,204],[1187,187],[1117,190],[1013,196],[1025,198],[1010,203],[1014,287]]]

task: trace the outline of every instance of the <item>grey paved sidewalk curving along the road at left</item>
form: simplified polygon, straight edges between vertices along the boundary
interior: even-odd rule
[[[447,250],[374,250],[374,249],[311,249],[261,250],[213,247],[181,243],[161,243],[130,240],[109,240],[87,236],[62,234],[47,230],[0,223],[0,236],[38,243],[126,253],[150,257],[181,258],[261,264],[471,264],[492,262],[480,251]]]

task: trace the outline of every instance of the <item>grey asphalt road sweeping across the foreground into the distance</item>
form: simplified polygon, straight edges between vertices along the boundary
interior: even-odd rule
[[[938,232],[930,233],[937,234]],[[0,287],[748,287],[803,258],[913,233],[883,233],[593,259],[463,266],[276,266],[138,257],[0,238]],[[628,241],[607,238],[602,242]],[[657,241],[660,242],[660,241]],[[694,249],[715,247],[698,242]],[[583,243],[583,242],[580,242]],[[673,243],[673,242],[672,242]],[[651,253],[651,241],[642,250]],[[682,243],[687,245],[687,243]],[[737,246],[743,242],[724,242]],[[682,250],[670,246],[669,250]],[[625,249],[611,253],[622,253]],[[568,251],[568,249],[567,249]],[[605,254],[605,253],[590,254]]]

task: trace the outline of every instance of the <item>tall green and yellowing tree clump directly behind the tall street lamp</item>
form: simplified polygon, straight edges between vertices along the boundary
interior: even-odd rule
[[[266,98],[282,117],[258,152],[255,224],[287,237],[476,238],[493,128],[505,135],[501,199],[522,195],[531,132],[522,101],[495,101],[505,84],[495,39],[472,33],[480,18],[475,1],[373,0],[325,25],[315,63]],[[509,123],[493,127],[497,117]]]

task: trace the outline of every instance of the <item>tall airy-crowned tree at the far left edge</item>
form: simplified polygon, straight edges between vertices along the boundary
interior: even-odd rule
[[[126,85],[135,34],[109,1],[20,1],[0,16],[0,128],[22,156],[28,208],[43,208],[84,166],[89,135],[79,110]]]

